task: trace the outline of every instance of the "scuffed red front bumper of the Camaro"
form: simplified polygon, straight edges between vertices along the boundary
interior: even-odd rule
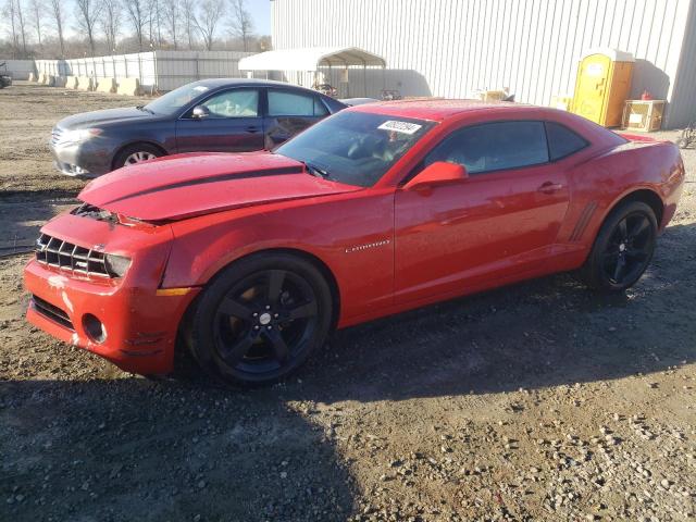
[[[199,289],[160,288],[171,246],[170,227],[138,229],[64,214],[41,232],[61,241],[128,257],[132,264],[125,276],[109,277],[32,260],[24,271],[24,284],[32,295],[27,320],[122,370],[171,373],[179,322]]]

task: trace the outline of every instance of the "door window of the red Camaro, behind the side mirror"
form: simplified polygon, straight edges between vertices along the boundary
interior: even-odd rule
[[[546,133],[542,122],[500,122],[456,130],[425,159],[449,161],[470,174],[537,165],[548,162]]]

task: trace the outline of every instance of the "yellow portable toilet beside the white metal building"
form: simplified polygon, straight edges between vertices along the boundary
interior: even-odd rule
[[[577,65],[571,112],[605,127],[620,126],[633,63],[633,54],[617,49],[586,52]]]

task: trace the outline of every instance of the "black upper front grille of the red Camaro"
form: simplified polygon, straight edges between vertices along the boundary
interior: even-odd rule
[[[73,273],[111,277],[104,262],[104,252],[79,247],[48,234],[41,234],[36,240],[36,260]]]

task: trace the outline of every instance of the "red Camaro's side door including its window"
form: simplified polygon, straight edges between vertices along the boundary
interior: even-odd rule
[[[457,293],[538,268],[569,204],[564,172],[549,162],[543,122],[453,132],[425,158],[469,178],[395,196],[396,303]]]

